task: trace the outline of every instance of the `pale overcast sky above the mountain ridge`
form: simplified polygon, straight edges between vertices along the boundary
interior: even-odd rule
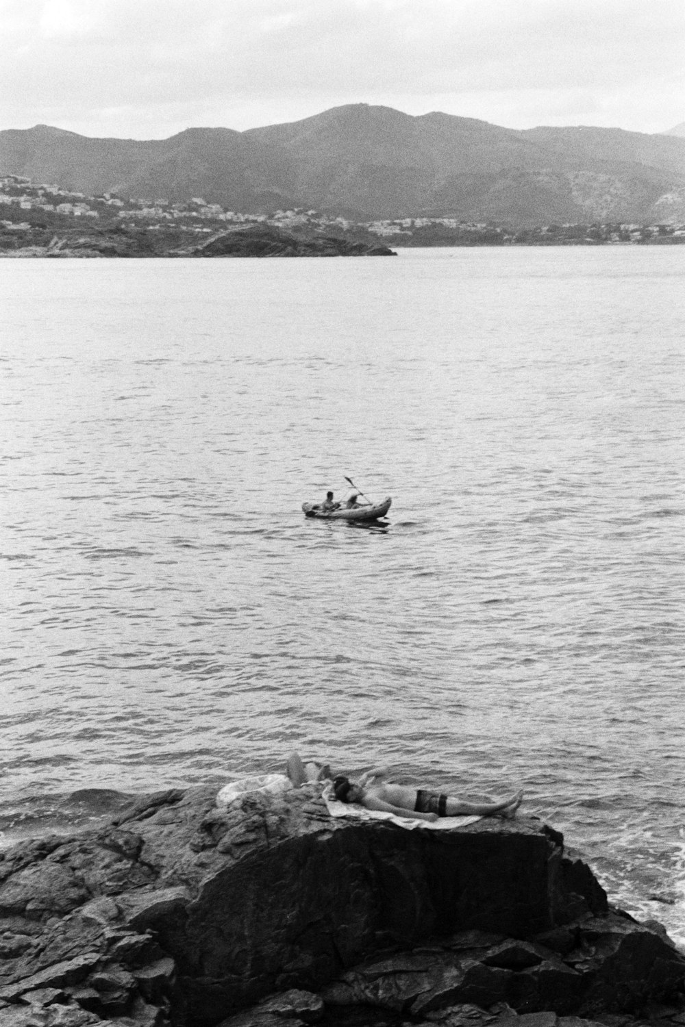
[[[153,139],[340,104],[685,121],[685,0],[0,0],[0,128]]]

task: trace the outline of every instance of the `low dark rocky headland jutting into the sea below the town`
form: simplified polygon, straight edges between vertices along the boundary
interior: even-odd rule
[[[272,225],[238,225],[208,237],[167,229],[113,226],[38,228],[6,231],[0,257],[394,257],[383,243],[369,243],[321,232],[290,232]]]

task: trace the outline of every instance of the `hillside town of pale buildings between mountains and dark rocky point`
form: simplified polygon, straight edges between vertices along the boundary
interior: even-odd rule
[[[316,211],[275,210],[250,214],[225,210],[201,196],[187,202],[163,198],[123,198],[114,192],[85,196],[55,185],[34,183],[20,175],[0,177],[0,252],[30,245],[45,232],[78,228],[137,228],[210,235],[239,225],[265,224],[288,231],[309,231],[379,238],[397,246],[499,244],[662,244],[685,242],[685,224],[635,223],[551,224],[508,228],[489,222],[462,222],[449,217],[415,217],[367,222]]]

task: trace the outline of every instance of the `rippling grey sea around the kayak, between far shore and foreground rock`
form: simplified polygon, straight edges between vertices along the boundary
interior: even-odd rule
[[[0,830],[293,749],[685,941],[685,248],[5,261]],[[390,527],[311,522],[350,477]]]

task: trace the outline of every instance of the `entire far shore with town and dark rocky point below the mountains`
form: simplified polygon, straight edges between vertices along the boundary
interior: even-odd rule
[[[24,176],[0,178],[0,255],[14,257],[387,257],[389,248],[685,242],[685,222],[673,218],[543,223],[529,216],[518,225],[481,219],[435,213],[359,221],[301,207],[246,214],[201,196],[183,202],[86,196]]]

